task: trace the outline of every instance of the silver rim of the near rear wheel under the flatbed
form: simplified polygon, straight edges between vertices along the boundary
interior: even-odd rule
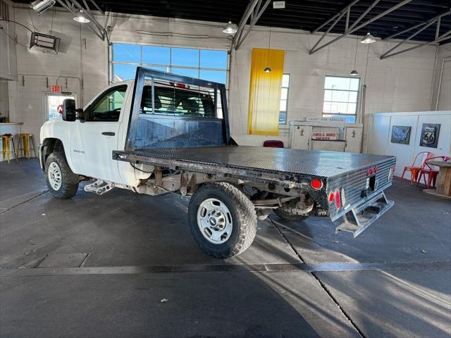
[[[222,244],[232,234],[232,215],[222,201],[206,199],[197,209],[197,226],[207,241]]]

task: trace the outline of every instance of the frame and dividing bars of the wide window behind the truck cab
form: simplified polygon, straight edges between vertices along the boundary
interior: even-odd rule
[[[130,45],[136,45],[140,46],[140,62],[125,62],[125,61],[113,61],[113,53],[114,44],[130,44]],[[169,64],[162,65],[162,64],[156,64],[156,63],[144,63],[143,59],[143,49],[146,46],[154,46],[154,47],[166,47],[169,49]],[[191,49],[191,50],[197,50],[198,51],[198,60],[197,60],[197,67],[194,66],[186,66],[186,65],[173,65],[172,64],[172,49]],[[201,51],[223,51],[227,53],[227,64],[226,68],[209,68],[209,67],[201,67]],[[136,65],[141,67],[147,67],[147,68],[166,68],[166,71],[171,73],[172,68],[180,68],[180,69],[189,69],[189,70],[197,70],[197,78],[200,78],[201,70],[213,70],[218,72],[226,72],[226,88],[228,88],[228,82],[229,82],[229,75],[230,75],[230,53],[228,53],[227,49],[214,49],[214,48],[195,48],[195,47],[187,47],[187,46],[178,46],[178,45],[165,45],[165,44],[137,44],[132,42],[111,42],[109,46],[109,69],[110,69],[110,76],[109,76],[109,83],[115,83],[114,79],[114,65],[120,64],[120,65]],[[175,73],[176,74],[176,73]]]

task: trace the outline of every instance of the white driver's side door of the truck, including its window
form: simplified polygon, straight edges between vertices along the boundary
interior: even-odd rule
[[[121,113],[127,85],[111,87],[99,95],[85,110],[85,121],[77,121],[72,137],[71,156],[80,163],[81,175],[120,182],[118,161],[112,151],[118,146]]]

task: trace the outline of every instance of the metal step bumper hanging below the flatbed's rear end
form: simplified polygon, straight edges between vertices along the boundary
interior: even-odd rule
[[[357,237],[362,231],[369,227],[375,220],[388,211],[394,201],[390,201],[381,192],[368,201],[360,204],[343,215],[343,223],[335,228],[335,233],[339,231],[352,232]]]

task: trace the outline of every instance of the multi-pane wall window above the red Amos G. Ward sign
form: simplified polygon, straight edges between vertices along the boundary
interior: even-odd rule
[[[324,80],[323,117],[345,118],[347,123],[355,123],[359,88],[359,78],[326,76]]]

